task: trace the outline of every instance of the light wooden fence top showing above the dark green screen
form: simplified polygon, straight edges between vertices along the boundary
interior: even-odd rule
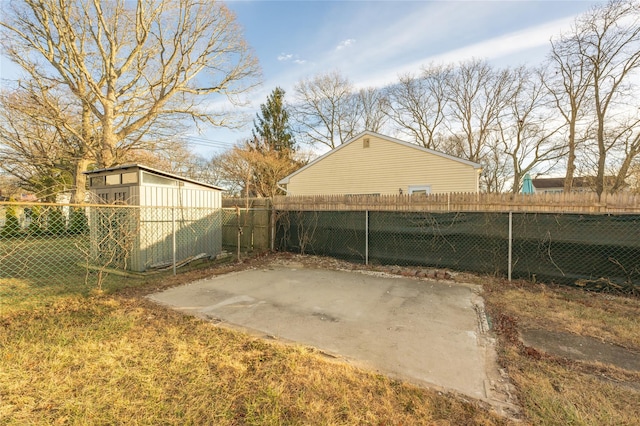
[[[272,205],[281,211],[426,211],[640,213],[640,195],[631,193],[279,196]]]

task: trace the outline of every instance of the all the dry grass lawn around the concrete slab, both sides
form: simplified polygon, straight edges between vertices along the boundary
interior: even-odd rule
[[[296,261],[361,267],[308,256]],[[221,328],[141,297],[234,268],[155,277],[89,297],[57,294],[1,313],[0,424],[512,423],[483,404],[363,371],[313,348]],[[484,286],[499,362],[522,407],[520,424],[638,424],[640,373],[543,354],[520,343],[518,333],[535,326],[640,353],[639,299],[460,279]]]

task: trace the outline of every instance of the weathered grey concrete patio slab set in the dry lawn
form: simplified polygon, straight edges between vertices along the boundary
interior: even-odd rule
[[[452,282],[275,265],[149,297],[418,384],[506,402],[478,292]]]

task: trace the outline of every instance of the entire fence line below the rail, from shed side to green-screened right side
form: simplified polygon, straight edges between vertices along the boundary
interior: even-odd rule
[[[273,230],[275,229],[275,236]],[[319,254],[640,292],[640,215],[0,203],[0,307],[234,252]],[[223,246],[224,245],[224,246]],[[108,277],[108,279],[107,279]]]

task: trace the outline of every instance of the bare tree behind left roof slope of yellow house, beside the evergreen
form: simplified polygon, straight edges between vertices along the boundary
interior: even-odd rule
[[[299,81],[292,105],[298,132],[308,143],[333,149],[356,134],[357,103],[351,82],[339,72]]]

